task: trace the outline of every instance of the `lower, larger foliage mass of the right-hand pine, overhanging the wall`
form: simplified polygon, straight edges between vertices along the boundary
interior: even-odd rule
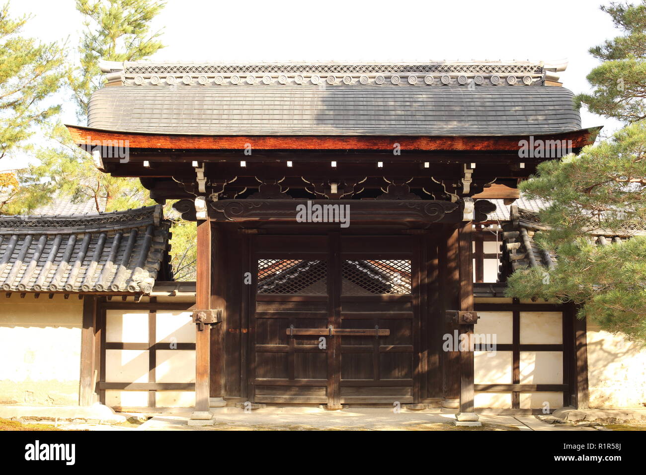
[[[646,121],[539,165],[521,190],[550,203],[539,217],[552,229],[534,239],[558,261],[552,271],[514,272],[508,295],[574,301],[604,330],[646,343]],[[632,237],[592,244],[589,231],[601,230]]]

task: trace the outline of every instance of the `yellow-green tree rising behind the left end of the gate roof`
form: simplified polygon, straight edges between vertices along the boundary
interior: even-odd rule
[[[87,105],[92,92],[103,85],[99,59],[132,61],[145,58],[163,47],[158,40],[160,32],[150,33],[150,22],[165,6],[151,0],[76,0],[76,8],[83,16],[84,30],[79,53],[81,64],[67,71],[67,85],[77,104],[79,120],[85,121]],[[96,211],[127,209],[152,204],[136,178],[115,178],[99,173],[89,154],[79,149],[62,124],[48,132],[50,145],[39,149],[39,165],[30,169],[32,185],[26,194],[39,195],[39,204],[51,201],[54,193],[45,193],[39,187],[48,182],[57,193],[71,196],[72,200],[92,200]],[[50,191],[48,189],[48,191]],[[24,209],[31,200],[16,200]]]

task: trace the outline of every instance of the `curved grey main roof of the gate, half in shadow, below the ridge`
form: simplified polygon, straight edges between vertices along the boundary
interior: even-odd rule
[[[581,129],[563,87],[130,87],[99,89],[88,126],[205,135],[492,136]]]

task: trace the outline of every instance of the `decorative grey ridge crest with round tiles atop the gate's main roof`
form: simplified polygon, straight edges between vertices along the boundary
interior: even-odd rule
[[[543,85],[566,61],[101,62],[109,83],[126,85]]]

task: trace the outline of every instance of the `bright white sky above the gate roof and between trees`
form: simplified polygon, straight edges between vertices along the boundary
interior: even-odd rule
[[[620,34],[599,10],[603,0],[169,0],[153,29],[167,47],[158,61],[433,61],[567,58],[561,74],[574,92],[598,63],[588,49]],[[605,2],[607,3],[607,1]],[[78,45],[83,28],[74,0],[13,0],[30,13],[24,34]],[[581,111],[583,127],[620,123]],[[63,112],[77,123],[74,105]],[[85,125],[85,123],[81,124]],[[0,169],[25,163],[3,160]]]

